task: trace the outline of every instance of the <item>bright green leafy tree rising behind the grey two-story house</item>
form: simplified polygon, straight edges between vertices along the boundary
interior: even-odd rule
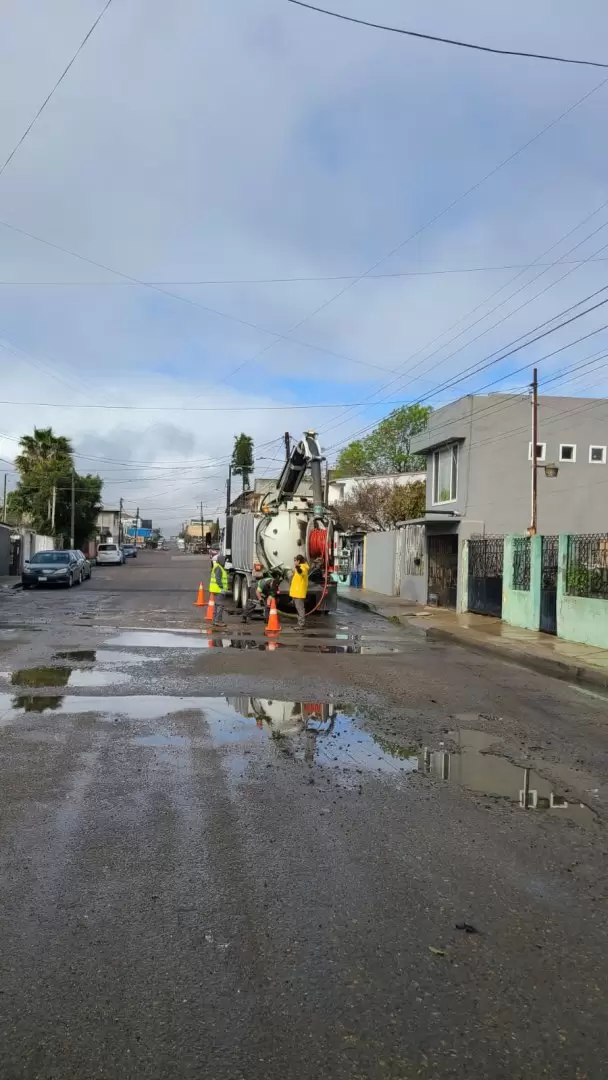
[[[365,438],[349,443],[338,455],[335,476],[379,476],[416,472],[424,459],[410,453],[414,435],[427,427],[430,405],[404,405],[380,421]]]

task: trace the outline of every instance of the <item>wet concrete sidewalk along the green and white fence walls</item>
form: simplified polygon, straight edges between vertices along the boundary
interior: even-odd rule
[[[565,642],[551,634],[509,626],[491,616],[457,615],[445,608],[421,607],[367,589],[340,589],[340,599],[398,621],[431,642],[456,642],[477,652],[491,652],[511,663],[569,683],[608,689],[608,650]]]

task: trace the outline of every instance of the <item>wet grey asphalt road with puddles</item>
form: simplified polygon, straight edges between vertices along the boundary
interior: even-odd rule
[[[605,1080],[606,700],[206,573],[0,594],[2,1078]]]

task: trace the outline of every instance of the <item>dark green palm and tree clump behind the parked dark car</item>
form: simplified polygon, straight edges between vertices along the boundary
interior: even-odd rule
[[[9,496],[9,510],[37,532],[69,538],[73,473],[75,543],[80,546],[95,531],[102,509],[102,477],[90,473],[80,476],[73,468],[69,438],[55,435],[52,428],[35,428],[33,435],[23,436],[15,458],[19,482]]]

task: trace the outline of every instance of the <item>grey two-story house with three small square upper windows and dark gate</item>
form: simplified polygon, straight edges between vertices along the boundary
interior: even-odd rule
[[[470,394],[433,411],[411,440],[427,457],[427,511],[406,541],[408,598],[460,607],[461,542],[526,532],[531,420],[528,394]],[[607,447],[607,399],[539,397],[539,534],[608,530]]]

